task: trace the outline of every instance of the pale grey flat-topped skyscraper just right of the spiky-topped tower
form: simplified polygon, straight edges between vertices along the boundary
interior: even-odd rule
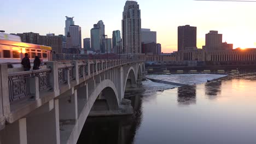
[[[77,25],[69,26],[69,33],[71,35],[72,47],[71,48],[82,48],[82,38],[81,38],[81,27]]]

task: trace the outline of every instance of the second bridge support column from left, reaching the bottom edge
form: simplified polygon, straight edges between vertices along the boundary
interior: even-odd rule
[[[42,107],[43,108],[43,107]],[[37,111],[37,110],[36,110]],[[34,113],[36,113],[36,111]],[[27,143],[60,143],[59,100],[54,100],[54,109],[27,117]]]

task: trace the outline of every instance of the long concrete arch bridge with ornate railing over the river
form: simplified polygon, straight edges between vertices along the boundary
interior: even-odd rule
[[[0,143],[76,143],[88,115],[133,112],[125,88],[144,77],[145,65],[143,59],[55,61],[10,71],[0,65]]]

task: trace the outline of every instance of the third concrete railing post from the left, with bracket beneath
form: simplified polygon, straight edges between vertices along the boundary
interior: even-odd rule
[[[51,69],[50,73],[50,85],[51,85],[51,91],[54,92],[55,97],[60,94],[59,89],[59,72],[58,72],[58,63],[57,62],[47,62],[46,63],[47,68]]]

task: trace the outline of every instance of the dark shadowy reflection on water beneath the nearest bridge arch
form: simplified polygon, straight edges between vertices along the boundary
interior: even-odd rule
[[[129,99],[135,111],[132,116],[89,117],[77,143],[132,143],[142,121],[142,103],[139,94]]]

